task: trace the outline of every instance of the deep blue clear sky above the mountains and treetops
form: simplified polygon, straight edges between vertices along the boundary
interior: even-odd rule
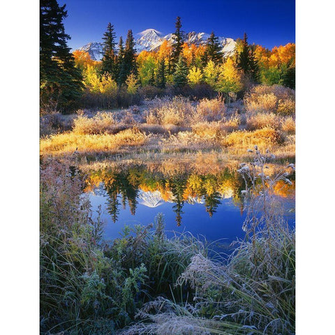
[[[186,32],[214,31],[236,39],[246,31],[249,43],[270,49],[295,42],[294,0],[59,0],[64,3],[64,26],[73,49],[100,42],[108,22],[114,24],[119,40],[128,29],[134,34],[149,28],[172,33],[177,16]]]

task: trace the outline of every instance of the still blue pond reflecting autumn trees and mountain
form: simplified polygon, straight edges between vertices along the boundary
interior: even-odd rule
[[[295,184],[279,182],[274,189],[283,216],[295,225]],[[244,181],[235,169],[215,173],[164,172],[142,165],[131,168],[104,168],[91,171],[85,192],[96,211],[101,207],[105,239],[120,237],[124,225],[154,223],[163,213],[168,237],[191,232],[207,241],[229,245],[244,237],[246,217],[241,199]]]

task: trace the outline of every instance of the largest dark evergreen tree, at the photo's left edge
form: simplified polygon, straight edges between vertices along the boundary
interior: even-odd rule
[[[64,111],[83,87],[62,23],[65,7],[56,0],[40,0],[40,108],[44,111]]]

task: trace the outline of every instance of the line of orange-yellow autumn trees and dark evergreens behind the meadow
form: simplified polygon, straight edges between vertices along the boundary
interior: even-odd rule
[[[177,17],[172,42],[137,54],[133,31],[126,41],[109,23],[103,34],[103,58],[67,46],[70,38],[61,23],[67,13],[56,0],[40,1],[40,106],[43,110],[71,107],[120,107],[143,96],[184,94],[201,98],[221,93],[243,96],[254,84],[281,84],[295,89],[295,44],[267,50],[249,45],[247,35],[224,57],[214,32],[204,45],[184,42]],[[55,28],[58,26],[58,29]]]

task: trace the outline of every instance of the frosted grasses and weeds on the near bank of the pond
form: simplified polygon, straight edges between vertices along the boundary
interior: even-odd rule
[[[227,259],[189,234],[167,239],[163,216],[103,241],[82,196],[75,156],[45,160],[40,178],[43,334],[293,334],[295,233],[278,214],[265,174],[270,155],[241,164],[246,239]],[[259,179],[259,182],[256,180]],[[210,253],[210,257],[209,257]],[[140,319],[140,322],[130,325]],[[128,328],[125,326],[130,325]],[[119,330],[118,329],[122,329]]]

